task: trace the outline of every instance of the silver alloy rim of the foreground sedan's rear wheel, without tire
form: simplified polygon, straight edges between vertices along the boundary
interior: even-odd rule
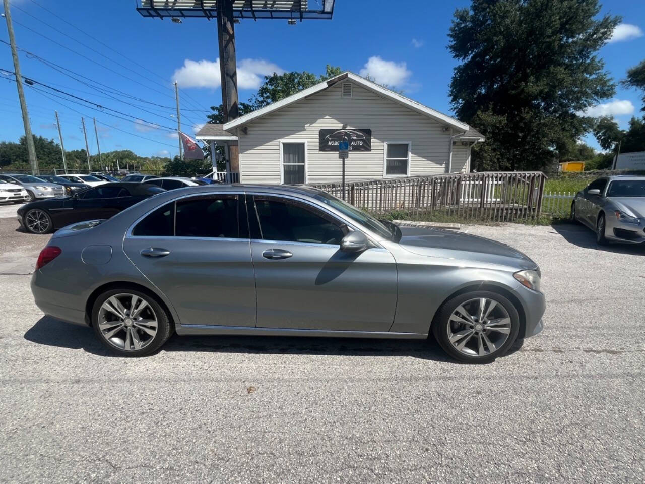
[[[98,325],[105,341],[124,351],[141,350],[150,345],[159,327],[149,301],[126,292],[114,294],[103,302]]]

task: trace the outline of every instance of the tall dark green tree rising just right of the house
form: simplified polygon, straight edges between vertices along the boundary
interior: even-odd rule
[[[478,170],[542,168],[590,130],[580,113],[615,91],[596,53],[620,19],[599,11],[597,0],[473,0],[455,11],[450,98],[486,136]]]

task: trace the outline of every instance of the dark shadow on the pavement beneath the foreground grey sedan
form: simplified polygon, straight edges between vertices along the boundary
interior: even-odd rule
[[[25,339],[61,348],[83,349],[100,356],[118,358],[97,341],[90,328],[43,316],[25,333]],[[519,339],[506,356],[522,347]],[[330,356],[411,356],[413,358],[459,363],[449,358],[430,338],[306,338],[291,336],[177,336],[174,334],[159,352],[213,352],[237,354],[299,354]]]

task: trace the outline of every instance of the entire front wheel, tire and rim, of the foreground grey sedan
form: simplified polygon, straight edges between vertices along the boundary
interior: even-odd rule
[[[504,356],[519,332],[519,314],[496,292],[473,291],[446,301],[432,325],[439,345],[452,358],[489,363]]]

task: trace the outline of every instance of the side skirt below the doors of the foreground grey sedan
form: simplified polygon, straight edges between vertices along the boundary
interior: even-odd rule
[[[253,336],[309,336],[323,338],[384,338],[384,339],[426,339],[428,334],[422,333],[395,333],[384,331],[329,331],[320,329],[283,329],[283,328],[255,328],[243,326],[216,326],[216,325],[176,325],[175,331],[179,335],[253,335]]]

